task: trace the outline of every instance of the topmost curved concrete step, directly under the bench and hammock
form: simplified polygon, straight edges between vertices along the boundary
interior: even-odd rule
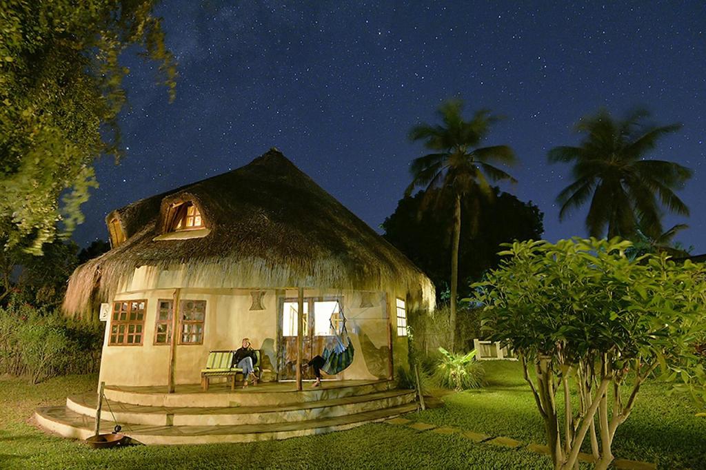
[[[319,402],[322,400],[352,397],[391,390],[395,383],[390,380],[346,380],[324,381],[321,387],[294,390],[294,382],[265,382],[257,387],[239,388],[231,391],[225,384],[214,384],[208,392],[200,385],[177,385],[174,393],[166,387],[127,387],[107,385],[105,397],[111,402],[142,406],[164,406],[167,408],[229,408],[232,406],[281,406],[282,404]]]

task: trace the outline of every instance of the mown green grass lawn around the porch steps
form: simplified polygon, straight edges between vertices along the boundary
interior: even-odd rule
[[[486,365],[489,387],[450,394],[446,406],[406,417],[523,442],[543,442],[542,421],[517,363]],[[477,444],[461,435],[419,433],[373,423],[353,430],[284,441],[185,447],[134,446],[90,450],[47,435],[30,419],[37,406],[95,390],[95,376],[68,376],[40,385],[0,379],[0,469],[547,469],[549,459],[527,450]],[[618,457],[660,468],[706,469],[706,419],[686,397],[666,397],[659,385],[643,391],[616,436]],[[586,467],[590,468],[590,467]]]

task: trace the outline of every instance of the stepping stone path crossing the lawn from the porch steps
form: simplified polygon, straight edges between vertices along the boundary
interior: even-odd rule
[[[473,431],[464,432],[461,429],[450,428],[448,426],[438,428],[434,424],[422,423],[421,421],[412,421],[411,419],[407,418],[392,418],[385,420],[385,423],[396,424],[397,426],[407,426],[408,428],[418,430],[419,432],[431,430],[432,433],[437,433],[441,435],[462,433],[461,435],[464,438],[472,440],[473,442],[487,442],[490,445],[496,445],[498,447],[508,447],[510,449],[518,449],[524,446],[524,444],[519,440],[505,438],[503,436],[496,436],[493,438],[493,436],[490,435],[474,433]],[[546,445],[530,444],[527,445],[527,450],[536,454],[549,455],[549,447]],[[580,462],[594,462],[592,454],[585,454],[584,452],[578,454],[578,459],[580,460]],[[621,470],[657,470],[657,464],[650,464],[649,462],[638,462],[636,460],[615,459],[613,461],[613,465],[616,469]]]

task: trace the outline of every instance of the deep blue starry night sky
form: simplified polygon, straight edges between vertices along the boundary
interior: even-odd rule
[[[409,128],[460,96],[468,116],[488,107],[508,117],[485,145],[514,148],[519,182],[505,189],[539,205],[551,241],[586,234],[585,212],[558,222],[568,167],[546,162],[551,147],[578,143],[580,116],[643,105],[656,123],[683,123],[650,156],[695,171],[679,193],[691,217],[664,226],[687,222],[677,239],[706,251],[705,2],[411,3],[165,0],[157,14],[179,61],[177,100],[154,85],[155,64],[125,54],[126,157],[98,162],[100,188],[74,239],[107,239],[110,210],[270,147],[379,231],[424,152]]]

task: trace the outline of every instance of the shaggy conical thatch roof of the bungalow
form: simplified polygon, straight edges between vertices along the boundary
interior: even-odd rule
[[[170,203],[191,200],[210,234],[153,240],[164,233]],[[400,291],[431,306],[426,275],[279,151],[244,167],[139,200],[112,212],[127,240],[79,266],[64,309],[90,314],[131,282],[136,267],[180,271],[180,285],[212,288]],[[149,289],[145,286],[145,289]]]

